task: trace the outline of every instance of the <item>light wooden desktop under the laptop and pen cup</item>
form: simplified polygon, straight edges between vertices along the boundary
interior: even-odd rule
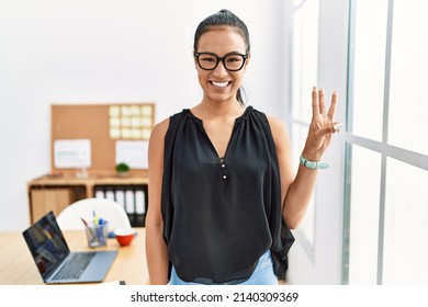
[[[121,247],[115,239],[109,239],[106,247],[97,248],[97,250],[119,250],[104,283],[125,281],[127,285],[148,284],[145,228],[135,229],[138,235],[127,247]],[[71,251],[93,250],[88,247],[83,230],[65,230],[63,232]],[[22,232],[0,232],[0,285],[41,284],[44,284],[43,280]]]

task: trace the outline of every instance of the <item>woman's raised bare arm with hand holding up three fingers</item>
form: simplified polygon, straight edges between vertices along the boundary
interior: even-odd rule
[[[331,104],[326,112],[324,91],[312,91],[313,117],[302,156],[307,160],[319,161],[327,149],[331,135],[336,132],[333,122],[337,103],[337,93],[331,96]],[[294,175],[291,164],[291,141],[284,125],[269,117],[280,164],[282,216],[291,229],[299,226],[304,217],[314,192],[318,170],[299,166]]]

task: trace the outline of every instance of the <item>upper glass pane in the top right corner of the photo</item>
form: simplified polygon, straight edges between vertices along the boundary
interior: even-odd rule
[[[394,1],[388,141],[428,155],[427,1]]]

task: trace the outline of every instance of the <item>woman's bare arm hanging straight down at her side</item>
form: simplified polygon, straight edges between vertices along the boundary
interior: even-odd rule
[[[164,240],[160,195],[164,173],[164,141],[169,120],[156,125],[148,147],[148,209],[146,216],[146,257],[150,284],[168,283],[168,251]]]

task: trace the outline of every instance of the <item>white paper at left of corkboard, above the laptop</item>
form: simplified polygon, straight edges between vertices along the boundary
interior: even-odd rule
[[[54,144],[54,163],[57,169],[90,168],[90,139],[57,139]]]

